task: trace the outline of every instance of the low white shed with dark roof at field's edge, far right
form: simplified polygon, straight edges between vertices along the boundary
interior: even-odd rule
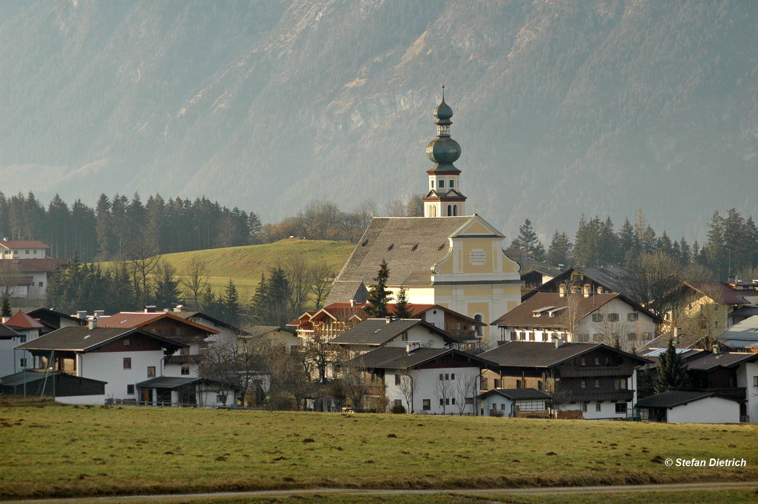
[[[738,424],[740,402],[716,392],[666,390],[637,401],[642,420],[670,424]]]

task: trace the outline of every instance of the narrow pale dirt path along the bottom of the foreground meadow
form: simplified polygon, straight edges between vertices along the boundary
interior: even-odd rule
[[[27,499],[3,502],[44,502],[45,504],[72,504],[74,502],[187,502],[193,499],[214,498],[245,498],[245,497],[287,497],[309,495],[359,495],[359,496],[389,496],[389,495],[427,495],[443,493],[466,496],[518,496],[518,495],[579,495],[582,493],[647,493],[647,492],[682,492],[688,490],[758,490],[758,481],[739,481],[725,483],[678,483],[660,485],[619,485],[615,487],[535,487],[535,488],[489,488],[489,489],[437,489],[437,490],[360,490],[354,488],[312,488],[300,490],[258,490],[252,492],[216,492],[216,493],[183,493],[173,495],[137,495],[111,497],[77,497],[70,499]]]

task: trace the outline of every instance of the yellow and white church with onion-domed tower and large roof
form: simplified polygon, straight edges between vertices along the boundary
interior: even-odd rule
[[[490,324],[521,302],[519,265],[503,252],[505,236],[480,215],[465,214],[461,171],[453,164],[461,146],[450,137],[453,109],[444,86],[434,117],[424,217],[374,218],[334,280],[327,304],[365,301],[383,260],[390,270],[387,289],[396,296],[405,288],[414,304],[442,305]],[[481,330],[481,343],[494,346],[496,328]]]

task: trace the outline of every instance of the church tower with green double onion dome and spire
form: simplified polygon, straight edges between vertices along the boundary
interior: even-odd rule
[[[442,102],[434,109],[437,121],[437,138],[429,142],[427,156],[434,167],[427,171],[429,192],[424,196],[424,217],[452,217],[463,215],[466,197],[460,193],[461,171],[453,164],[461,157],[461,146],[450,138],[450,117],[453,109],[445,103],[445,86]]]

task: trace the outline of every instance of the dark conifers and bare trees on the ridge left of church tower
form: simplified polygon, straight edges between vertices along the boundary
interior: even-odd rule
[[[393,216],[423,214],[420,196],[387,205]],[[371,218],[380,214],[371,201],[355,211],[342,211],[332,202],[313,201],[296,216],[262,224],[254,211],[227,208],[205,196],[169,198],[158,193],[143,203],[139,193],[109,198],[101,194],[94,208],[80,199],[68,205],[57,194],[48,208],[34,193],[6,197],[0,192],[0,237],[39,239],[54,258],[86,262],[124,259],[145,243],[158,254],[273,243],[290,236],[346,240],[357,243]]]

